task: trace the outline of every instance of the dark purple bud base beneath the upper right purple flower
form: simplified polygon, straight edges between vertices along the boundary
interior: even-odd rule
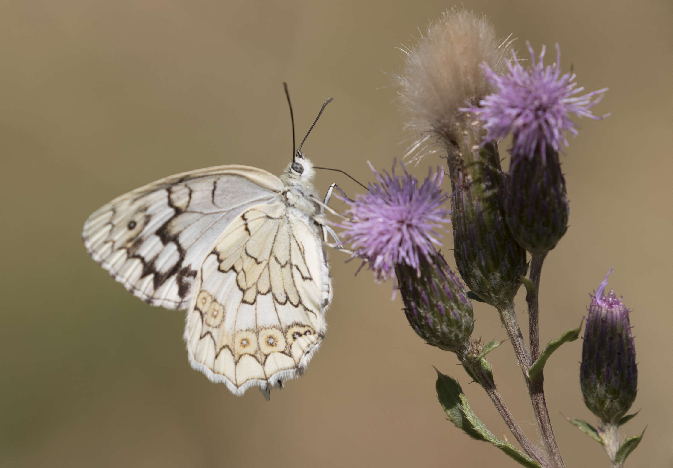
[[[507,225],[532,255],[553,249],[568,229],[569,206],[559,153],[512,159],[505,197]]]

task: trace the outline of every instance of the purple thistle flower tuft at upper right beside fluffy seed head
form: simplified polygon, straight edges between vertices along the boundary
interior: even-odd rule
[[[509,132],[514,135],[512,154],[532,158],[535,151],[546,155],[546,145],[555,151],[567,147],[567,132],[577,136],[577,125],[570,114],[600,120],[609,116],[594,116],[590,108],[598,104],[608,88],[598,89],[581,96],[583,87],[575,88],[574,73],[561,75],[561,49],[556,44],[556,63],[544,67],[544,46],[538,61],[530,43],[531,65],[522,67],[512,50],[513,63],[507,62],[509,73],[497,75],[491,67],[481,65],[487,81],[497,89],[485,97],[475,108],[461,108],[463,112],[479,115],[487,130],[485,141],[503,139]]]

